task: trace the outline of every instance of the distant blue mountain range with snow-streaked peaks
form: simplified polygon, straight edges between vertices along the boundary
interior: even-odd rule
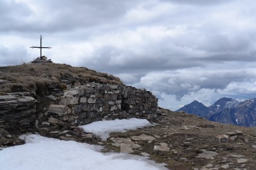
[[[236,99],[223,97],[209,107],[193,101],[177,111],[193,113],[223,124],[256,127],[256,98],[239,102]]]

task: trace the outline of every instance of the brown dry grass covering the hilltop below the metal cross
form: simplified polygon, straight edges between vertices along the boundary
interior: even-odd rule
[[[0,83],[0,95],[5,92],[31,92],[36,96],[49,94],[49,85],[57,85],[59,89],[67,86],[61,83],[61,77],[71,76],[81,82],[100,82],[123,84],[119,78],[107,73],[99,73],[86,67],[72,67],[67,64],[34,63],[17,66],[0,67],[0,79],[10,83]]]

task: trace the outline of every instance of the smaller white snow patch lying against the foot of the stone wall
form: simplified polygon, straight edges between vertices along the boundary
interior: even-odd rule
[[[88,125],[81,125],[85,132],[93,133],[99,136],[102,140],[106,140],[111,132],[125,132],[127,130],[134,130],[138,127],[145,127],[150,124],[146,119],[130,118],[122,120],[104,120],[93,122]]]

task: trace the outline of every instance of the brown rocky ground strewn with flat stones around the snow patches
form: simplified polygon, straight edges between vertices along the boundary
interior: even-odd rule
[[[256,129],[209,122],[187,113],[159,110],[154,126],[112,133],[107,141],[78,127],[44,122],[37,132],[51,138],[104,146],[103,152],[126,152],[164,162],[168,169],[255,169]],[[0,132],[0,145],[23,141]]]

